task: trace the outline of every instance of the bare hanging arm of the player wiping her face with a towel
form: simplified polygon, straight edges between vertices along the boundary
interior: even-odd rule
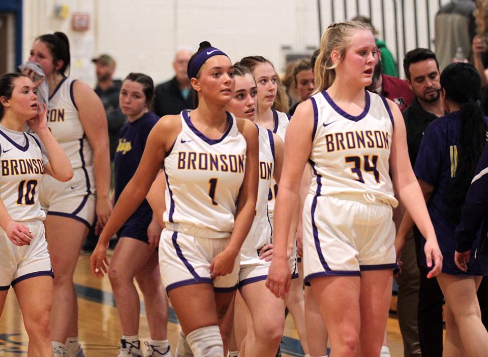
[[[81,125],[93,151],[95,187],[97,188],[97,224],[103,227],[112,212],[109,197],[111,169],[107,117],[102,101],[87,84],[76,81],[73,85],[73,95]]]

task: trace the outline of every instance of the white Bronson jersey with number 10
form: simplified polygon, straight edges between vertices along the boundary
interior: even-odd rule
[[[7,129],[0,124],[0,197],[16,222],[44,220],[39,188],[49,162],[35,134]]]

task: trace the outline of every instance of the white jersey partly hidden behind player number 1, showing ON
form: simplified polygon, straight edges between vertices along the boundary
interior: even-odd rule
[[[257,249],[271,242],[272,228],[268,217],[268,192],[275,170],[275,140],[271,130],[259,130],[259,184],[253,225],[241,248],[242,257],[257,257]]]

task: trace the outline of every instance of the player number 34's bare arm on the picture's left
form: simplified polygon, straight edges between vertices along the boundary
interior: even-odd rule
[[[266,286],[276,297],[285,298],[290,287],[287,243],[296,207],[300,205],[299,188],[305,164],[312,150],[313,108],[310,100],[300,103],[286,130],[285,158],[280,189],[275,204],[273,259]]]

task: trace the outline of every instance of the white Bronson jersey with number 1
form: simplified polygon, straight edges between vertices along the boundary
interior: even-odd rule
[[[195,226],[229,236],[234,227],[236,201],[246,166],[246,139],[235,117],[220,139],[209,139],[182,111],[181,132],[164,160],[168,227]],[[222,236],[222,235],[221,235]],[[219,235],[208,236],[208,238]]]

